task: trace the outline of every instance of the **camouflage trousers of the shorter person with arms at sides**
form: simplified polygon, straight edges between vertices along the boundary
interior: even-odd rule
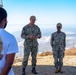
[[[56,68],[61,68],[63,66],[64,50],[53,51],[54,64]]]

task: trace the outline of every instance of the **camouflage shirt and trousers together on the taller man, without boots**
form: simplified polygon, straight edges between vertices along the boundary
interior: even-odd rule
[[[34,39],[29,39],[28,36],[33,35]],[[36,66],[36,56],[38,51],[38,42],[36,36],[41,37],[41,31],[40,28],[37,25],[34,25],[33,27],[30,26],[30,24],[26,25],[22,29],[21,37],[25,39],[24,41],[24,58],[22,66],[26,68],[28,63],[28,57],[31,52],[32,56],[32,67]]]

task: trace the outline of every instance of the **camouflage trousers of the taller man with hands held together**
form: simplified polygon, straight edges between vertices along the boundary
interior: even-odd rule
[[[32,68],[36,67],[36,56],[37,56],[37,52],[38,52],[38,46],[35,47],[24,47],[24,58],[23,58],[23,62],[22,62],[22,68],[26,68],[27,64],[28,64],[28,58],[29,55],[31,53],[32,56]]]

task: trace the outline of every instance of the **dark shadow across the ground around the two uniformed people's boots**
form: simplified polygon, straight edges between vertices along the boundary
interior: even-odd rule
[[[15,75],[21,75],[21,66],[13,66]],[[63,74],[55,74],[55,68],[53,65],[38,65],[36,67],[38,72],[37,75],[76,75],[76,67],[75,66],[64,66]],[[34,75],[31,73],[31,66],[27,66],[26,75]]]

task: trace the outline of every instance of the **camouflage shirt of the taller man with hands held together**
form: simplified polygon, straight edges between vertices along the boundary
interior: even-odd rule
[[[34,27],[31,27],[30,24],[28,24],[25,27],[23,27],[21,35],[22,38],[25,39],[24,46],[38,46],[36,36],[40,35],[41,37],[41,31],[38,26],[34,25]],[[33,40],[28,39],[28,36],[30,35],[33,35],[35,38]]]

